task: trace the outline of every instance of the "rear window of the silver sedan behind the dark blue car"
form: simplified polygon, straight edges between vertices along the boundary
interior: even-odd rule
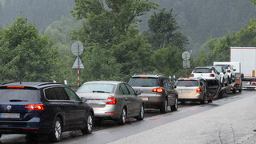
[[[82,85],[77,93],[114,93],[114,84],[106,83],[88,83]]]

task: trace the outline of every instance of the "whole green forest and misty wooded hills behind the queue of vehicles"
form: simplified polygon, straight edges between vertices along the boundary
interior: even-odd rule
[[[246,9],[245,9],[246,7]],[[254,0],[0,0],[0,83],[128,81],[133,74],[186,77],[194,66],[229,61],[230,46],[255,46]]]

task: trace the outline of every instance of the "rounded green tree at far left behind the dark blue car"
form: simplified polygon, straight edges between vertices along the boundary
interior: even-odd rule
[[[19,17],[0,33],[0,81],[24,82],[59,80],[58,50],[27,19]]]

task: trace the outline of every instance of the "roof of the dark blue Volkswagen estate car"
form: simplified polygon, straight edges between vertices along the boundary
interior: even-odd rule
[[[10,83],[3,83],[0,86],[28,86],[28,87],[34,87],[34,88],[40,89],[48,86],[65,86],[65,85],[57,82],[10,82]]]

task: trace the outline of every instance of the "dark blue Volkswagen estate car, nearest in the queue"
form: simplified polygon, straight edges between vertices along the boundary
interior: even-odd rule
[[[94,110],[68,86],[50,82],[15,82],[0,85],[0,137],[47,135],[58,142],[63,131],[90,134]]]

